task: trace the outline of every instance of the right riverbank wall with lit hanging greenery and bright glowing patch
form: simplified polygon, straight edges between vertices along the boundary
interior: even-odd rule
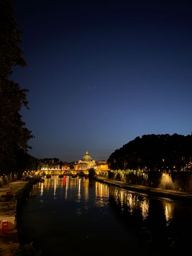
[[[124,181],[128,185],[142,185],[149,188],[169,189],[192,193],[191,172],[143,172],[143,171],[101,171],[99,177]]]

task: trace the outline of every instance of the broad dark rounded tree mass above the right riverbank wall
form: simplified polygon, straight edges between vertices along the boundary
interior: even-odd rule
[[[111,170],[191,171],[192,135],[149,134],[137,137],[109,156]]]

